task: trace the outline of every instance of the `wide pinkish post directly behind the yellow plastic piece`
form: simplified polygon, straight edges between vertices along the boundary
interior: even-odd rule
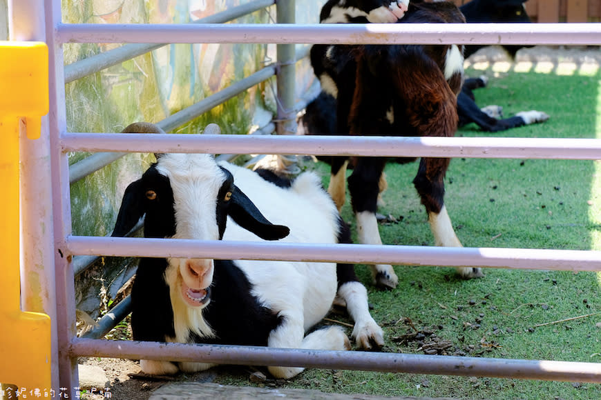
[[[43,0],[9,0],[9,38],[46,42]],[[58,387],[57,309],[53,212],[50,203],[50,139],[48,117],[41,120],[40,138],[32,141],[21,126],[21,309],[43,312],[51,321],[51,381]],[[48,388],[50,389],[50,388]]]

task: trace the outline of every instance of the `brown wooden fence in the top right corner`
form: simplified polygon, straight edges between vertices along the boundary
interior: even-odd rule
[[[458,6],[470,0],[453,0]],[[528,0],[526,11],[534,22],[599,22],[601,0]]]

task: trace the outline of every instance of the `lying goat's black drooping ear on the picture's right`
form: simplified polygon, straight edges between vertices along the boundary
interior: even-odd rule
[[[287,237],[290,229],[283,225],[274,225],[256,208],[254,203],[237,186],[233,187],[229,200],[228,214],[242,228],[253,232],[261,239],[278,240]]]

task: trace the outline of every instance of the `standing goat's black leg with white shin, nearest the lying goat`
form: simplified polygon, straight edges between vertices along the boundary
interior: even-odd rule
[[[351,203],[356,216],[359,242],[381,245],[376,210],[380,179],[385,166],[382,157],[361,157],[348,178]],[[399,283],[397,274],[388,264],[374,264],[372,278],[379,288],[394,289]]]

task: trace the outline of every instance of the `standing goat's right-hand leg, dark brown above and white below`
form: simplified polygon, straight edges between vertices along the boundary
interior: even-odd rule
[[[449,162],[450,159],[422,158],[413,184],[428,212],[428,222],[436,246],[463,247],[455,234],[443,201],[443,179]],[[465,279],[484,277],[481,268],[457,267],[457,272]]]

